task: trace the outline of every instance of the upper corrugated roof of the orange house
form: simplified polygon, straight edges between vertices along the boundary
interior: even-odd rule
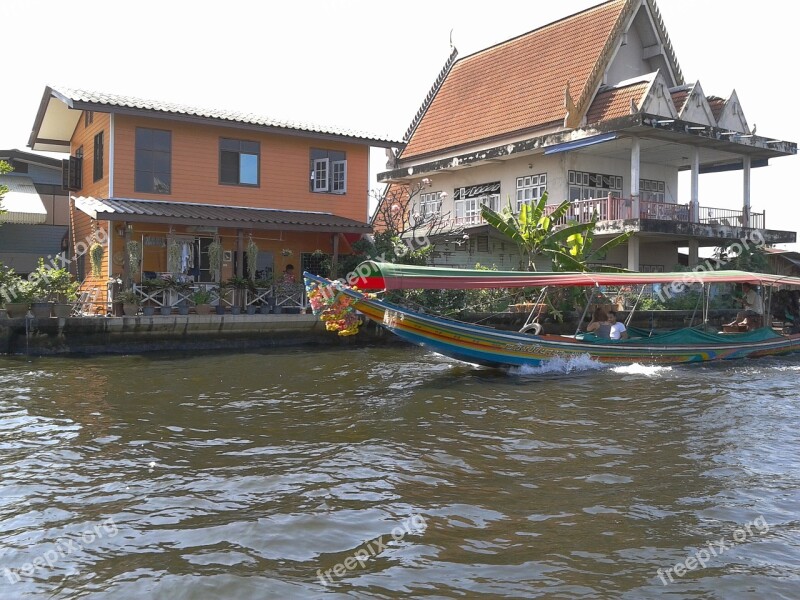
[[[327,127],[314,123],[280,121],[270,117],[256,115],[253,113],[240,113],[231,110],[198,108],[184,104],[162,102],[160,100],[146,100],[133,96],[121,96],[117,94],[107,94],[105,92],[93,92],[88,90],[72,89],[69,87],[52,86],[50,87],[56,97],[75,108],[85,108],[80,105],[99,105],[93,110],[102,111],[102,106],[130,108],[143,111],[154,111],[170,113],[174,115],[186,115],[191,117],[201,117],[204,119],[217,119],[221,121],[231,121],[247,125],[260,125],[263,127],[273,127],[277,129],[287,129],[295,131],[306,131],[325,135],[344,136],[349,138],[361,139],[365,141],[383,142],[391,145],[402,145],[399,140],[387,135],[374,135],[364,131],[353,129],[341,129]],[[86,107],[88,108],[88,107]],[[382,144],[383,145],[383,144]]]

